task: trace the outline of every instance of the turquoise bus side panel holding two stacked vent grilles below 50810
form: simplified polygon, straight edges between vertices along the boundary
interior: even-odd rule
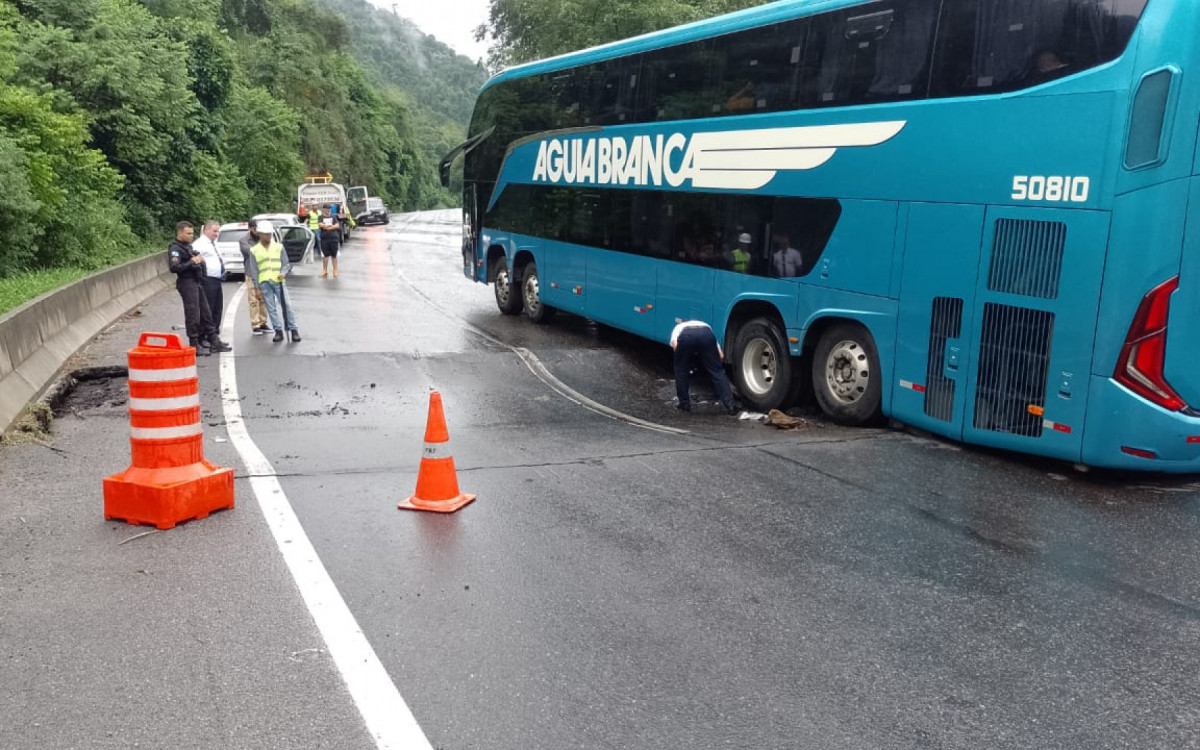
[[[964,439],[1078,461],[1109,215],[991,206]]]

